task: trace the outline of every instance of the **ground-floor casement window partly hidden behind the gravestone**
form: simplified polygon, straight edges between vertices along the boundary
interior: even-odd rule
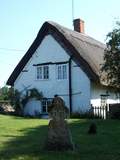
[[[48,113],[48,106],[51,104],[52,98],[42,99],[42,113]]]

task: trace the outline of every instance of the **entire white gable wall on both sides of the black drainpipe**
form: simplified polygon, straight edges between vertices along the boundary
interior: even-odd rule
[[[14,83],[14,87],[23,91],[25,87],[37,88],[43,92],[47,98],[53,98],[55,94],[62,95],[66,105],[69,107],[69,81],[56,79],[56,65],[49,65],[49,80],[36,80],[36,67],[33,64],[46,62],[68,61],[69,55],[51,36],[47,35],[41,45],[31,57],[25,70],[22,72]],[[72,61],[72,92],[73,92],[73,111],[86,110],[90,106],[90,80],[86,74]],[[81,92],[80,94],[78,94]],[[23,92],[24,93],[24,92]]]

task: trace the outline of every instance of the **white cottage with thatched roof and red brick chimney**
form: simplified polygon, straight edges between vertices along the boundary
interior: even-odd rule
[[[46,97],[41,113],[54,95],[62,97],[70,112],[118,102],[114,88],[101,81],[105,45],[84,33],[84,21],[74,20],[74,31],[45,22],[18,63],[7,84],[23,95],[37,88]]]

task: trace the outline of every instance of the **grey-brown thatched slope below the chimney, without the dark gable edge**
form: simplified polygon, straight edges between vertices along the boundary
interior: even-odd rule
[[[70,30],[54,22],[49,23],[54,25],[66,37],[80,56],[87,61],[92,70],[99,76],[100,65],[103,63],[105,44],[84,33]]]

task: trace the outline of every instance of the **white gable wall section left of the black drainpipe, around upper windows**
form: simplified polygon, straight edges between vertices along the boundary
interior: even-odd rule
[[[43,95],[47,98],[53,98],[55,94],[68,95],[69,83],[66,80],[57,80],[56,78],[56,65],[49,65],[50,77],[49,80],[36,80],[36,67],[33,64],[45,63],[45,62],[61,62],[68,61],[69,55],[58,44],[58,42],[48,35],[44,38],[41,45],[36,50],[33,57],[29,60],[25,66],[25,70],[28,72],[22,72],[15,81],[14,87],[19,91],[24,90],[25,86],[30,88],[37,88],[43,92]],[[69,106],[69,97],[65,96],[64,100],[66,105]]]

